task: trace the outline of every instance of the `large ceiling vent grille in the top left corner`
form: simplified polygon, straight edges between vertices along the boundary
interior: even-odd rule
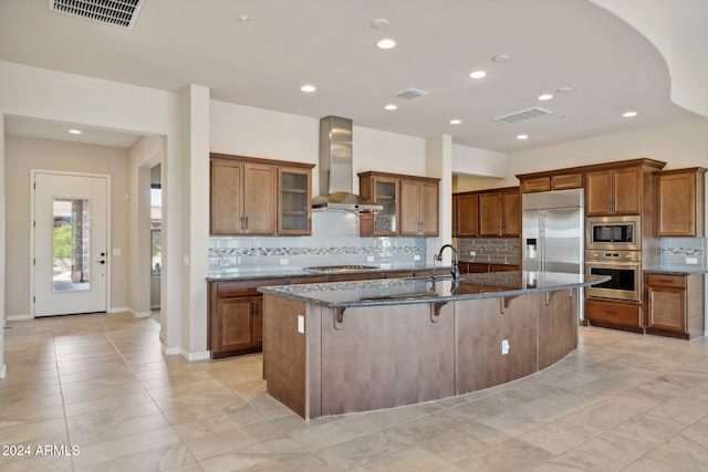
[[[49,9],[133,29],[144,0],[50,0]]]

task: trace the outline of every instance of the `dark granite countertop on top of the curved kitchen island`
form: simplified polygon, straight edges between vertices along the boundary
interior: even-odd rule
[[[595,285],[607,280],[610,280],[608,276],[601,275],[514,271],[466,274],[458,282],[452,281],[449,276],[438,277],[435,281],[426,276],[279,285],[260,287],[258,291],[267,295],[282,296],[331,308],[346,308],[519,296]]]

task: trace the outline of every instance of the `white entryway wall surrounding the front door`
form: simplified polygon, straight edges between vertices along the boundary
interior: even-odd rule
[[[126,149],[91,146],[75,143],[6,137],[6,190],[12,195],[7,211],[6,256],[6,315],[29,317],[30,306],[30,247],[31,208],[30,170],[61,170],[69,172],[104,174],[111,176],[111,245],[122,255],[110,255],[111,306],[128,306],[128,154]],[[108,250],[111,254],[111,249]]]

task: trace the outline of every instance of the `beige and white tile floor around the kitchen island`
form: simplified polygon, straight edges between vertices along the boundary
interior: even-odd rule
[[[507,386],[304,422],[266,395],[260,355],[164,357],[158,329],[8,323],[0,471],[708,471],[705,339],[581,327]]]

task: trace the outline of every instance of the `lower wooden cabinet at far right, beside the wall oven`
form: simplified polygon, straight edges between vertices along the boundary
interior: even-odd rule
[[[704,335],[704,275],[645,275],[649,334],[693,339]]]

